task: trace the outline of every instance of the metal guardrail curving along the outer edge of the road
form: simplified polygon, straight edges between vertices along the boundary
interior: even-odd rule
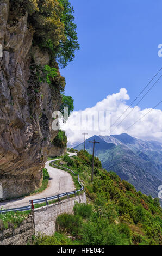
[[[54,164],[53,162],[54,161],[51,162],[53,166],[56,166],[56,167],[59,167],[59,168],[64,168],[66,170],[69,170],[74,175],[77,175],[76,173],[73,172],[73,170],[68,169],[66,167],[63,167],[63,166],[58,166],[57,164]],[[79,184],[81,186],[80,190],[74,190],[74,191],[71,191],[71,192],[61,193],[61,194],[57,194],[56,196],[52,196],[52,197],[46,197],[46,198],[41,198],[41,199],[30,200],[29,201],[30,205],[28,205],[28,206],[23,206],[23,207],[13,208],[13,209],[7,209],[7,210],[0,210],[0,214],[5,214],[5,213],[10,212],[10,211],[14,211],[14,212],[16,212],[16,211],[28,211],[28,210],[34,209],[34,204],[46,202],[46,205],[48,205],[48,202],[51,201],[51,200],[58,199],[58,201],[60,201],[61,197],[67,196],[67,198],[68,198],[72,194],[76,195],[77,192],[80,192],[80,191],[84,190],[84,187],[83,187],[82,183],[80,182],[79,174],[78,174],[78,182],[79,182]]]

